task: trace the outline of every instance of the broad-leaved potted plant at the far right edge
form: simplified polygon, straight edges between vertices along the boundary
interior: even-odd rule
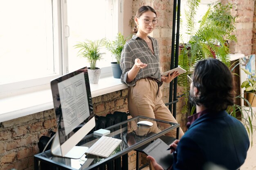
[[[256,75],[253,75],[250,71],[245,68],[241,68],[249,78],[247,78],[241,85],[241,88],[245,88],[244,91],[244,105],[256,107]]]

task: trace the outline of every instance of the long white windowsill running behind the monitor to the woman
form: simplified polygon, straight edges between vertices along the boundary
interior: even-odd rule
[[[0,122],[16,119],[53,108],[52,91],[48,88],[33,93],[13,95],[0,99]],[[112,75],[101,78],[98,84],[90,84],[92,97],[128,88]],[[26,101],[26,102],[24,102]]]

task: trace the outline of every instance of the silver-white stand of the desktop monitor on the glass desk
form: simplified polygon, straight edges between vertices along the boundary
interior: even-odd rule
[[[81,158],[85,152],[88,150],[88,147],[85,146],[74,146],[69,152],[67,152],[66,155],[61,154],[61,145],[59,141],[58,131],[56,132],[56,135],[54,137],[54,140],[52,142],[52,155],[58,156],[58,157],[67,157],[72,159],[79,159]]]

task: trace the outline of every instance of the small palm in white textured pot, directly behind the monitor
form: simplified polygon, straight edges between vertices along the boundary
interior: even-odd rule
[[[101,40],[85,40],[84,42],[79,42],[74,45],[75,48],[80,49],[78,51],[79,57],[87,58],[90,63],[88,67],[89,82],[91,84],[98,84],[99,77],[101,75],[101,68],[96,67],[97,61],[102,59],[102,55],[105,53],[100,53],[101,47],[106,43],[106,39]]]

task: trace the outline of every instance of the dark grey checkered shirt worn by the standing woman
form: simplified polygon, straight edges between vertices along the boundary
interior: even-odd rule
[[[154,54],[150,51],[146,41],[136,35],[133,35],[124,45],[120,61],[121,82],[128,86],[134,86],[137,80],[145,77],[152,77],[161,81],[158,43],[155,38],[150,36],[148,38],[153,43]],[[132,82],[126,83],[128,71],[134,65],[136,58],[139,58],[142,63],[148,64],[148,66],[141,68]]]

